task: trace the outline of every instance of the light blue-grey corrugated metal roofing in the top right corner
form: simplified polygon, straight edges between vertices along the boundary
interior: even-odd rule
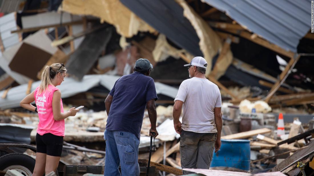
[[[310,30],[310,0],[202,0],[285,50],[297,52]]]

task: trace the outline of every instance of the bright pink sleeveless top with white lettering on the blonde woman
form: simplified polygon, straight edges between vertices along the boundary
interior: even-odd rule
[[[53,118],[52,112],[52,98],[53,93],[59,90],[53,85],[49,85],[46,90],[39,93],[39,87],[35,89],[34,98],[37,106],[39,123],[37,126],[37,133],[44,135],[51,133],[56,136],[64,136],[64,120],[56,121]],[[62,99],[60,98],[61,112],[63,113]]]

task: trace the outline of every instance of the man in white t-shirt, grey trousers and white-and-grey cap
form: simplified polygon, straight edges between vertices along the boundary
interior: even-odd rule
[[[195,57],[186,64],[190,79],[184,80],[173,106],[173,124],[181,134],[182,168],[208,169],[213,151],[220,149],[221,96],[216,84],[205,78],[207,62]],[[183,106],[182,123],[179,121]],[[183,171],[183,174],[187,174]]]

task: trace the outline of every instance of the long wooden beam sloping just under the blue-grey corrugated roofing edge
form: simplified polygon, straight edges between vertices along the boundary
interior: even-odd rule
[[[283,54],[289,58],[292,58],[294,56],[295,53],[291,52],[291,51],[286,51],[283,48],[280,48],[278,45],[275,45],[273,43],[268,42],[267,40],[260,38],[260,37],[256,37],[256,38],[251,38],[252,33],[249,33],[247,31],[241,31],[241,30],[234,30],[234,29],[223,29],[226,32],[229,33],[233,33],[236,35],[239,35],[243,38],[246,38],[254,43],[257,43],[259,45],[262,45],[265,48],[268,48],[270,50],[273,50],[277,53]]]

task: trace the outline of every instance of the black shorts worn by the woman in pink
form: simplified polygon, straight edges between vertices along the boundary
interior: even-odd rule
[[[56,136],[51,133],[44,135],[36,134],[36,148],[38,153],[46,153],[50,156],[61,156],[63,136]]]

